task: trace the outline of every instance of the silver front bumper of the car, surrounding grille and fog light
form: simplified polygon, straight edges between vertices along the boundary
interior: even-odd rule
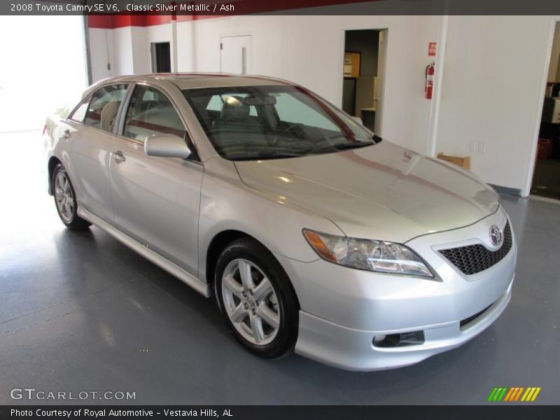
[[[422,255],[441,281],[276,255],[300,300],[296,353],[347,370],[382,370],[417,363],[472,339],[510,301],[517,243],[513,239],[503,260],[474,276],[458,272],[437,249],[480,243],[489,226],[503,226],[505,221],[500,209],[467,228],[409,241],[407,246]],[[381,347],[373,343],[374,337],[416,331],[423,332],[421,344]]]

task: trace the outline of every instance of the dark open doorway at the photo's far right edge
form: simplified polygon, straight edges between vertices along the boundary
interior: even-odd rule
[[[531,194],[560,200],[560,22],[556,22]]]

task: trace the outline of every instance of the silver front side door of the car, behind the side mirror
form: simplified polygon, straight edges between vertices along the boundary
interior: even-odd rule
[[[185,137],[185,125],[161,90],[136,85],[123,135],[111,160],[116,226],[193,275],[198,269],[198,214],[204,167],[194,160],[144,153],[155,134]]]

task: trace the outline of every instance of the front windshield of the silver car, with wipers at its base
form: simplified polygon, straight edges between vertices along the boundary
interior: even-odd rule
[[[207,87],[183,94],[228,160],[335,153],[377,141],[353,118],[299,86]]]

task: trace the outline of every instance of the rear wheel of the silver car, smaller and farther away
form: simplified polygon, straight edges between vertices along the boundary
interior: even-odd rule
[[[52,171],[52,192],[55,197],[58,216],[62,223],[66,225],[66,228],[83,230],[90,227],[90,222],[78,216],[76,192],[62,163],[59,163]]]

